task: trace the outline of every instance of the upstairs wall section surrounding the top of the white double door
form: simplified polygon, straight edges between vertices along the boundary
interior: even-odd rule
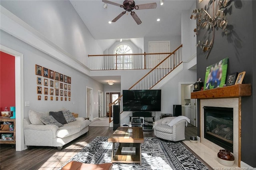
[[[144,37],[144,52],[148,53],[148,42],[170,41],[170,52],[181,45],[181,36]]]

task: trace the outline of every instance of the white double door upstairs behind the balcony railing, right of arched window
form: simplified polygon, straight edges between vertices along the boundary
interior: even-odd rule
[[[148,42],[149,53],[169,53],[170,52],[170,41],[163,42]],[[158,63],[165,59],[167,55],[150,55],[148,60],[147,68],[154,68]]]

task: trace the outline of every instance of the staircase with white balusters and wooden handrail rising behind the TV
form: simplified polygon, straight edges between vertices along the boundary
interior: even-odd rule
[[[158,83],[163,80],[170,73],[178,70],[178,66],[182,64],[181,58],[181,48],[182,44],[176,48],[172,53],[170,53],[166,58],[164,58],[160,63],[158,63],[153,69],[151,69],[146,75],[144,75],[140,80],[138,80],[134,85],[132,85],[129,90],[139,90],[139,89],[152,89],[155,88]],[[112,106],[116,103],[120,103],[122,95],[116,99],[113,103],[109,104],[109,111],[112,111]],[[122,114],[121,112],[120,114]],[[130,113],[128,113],[130,114]],[[109,123],[111,124],[113,119],[109,118]]]

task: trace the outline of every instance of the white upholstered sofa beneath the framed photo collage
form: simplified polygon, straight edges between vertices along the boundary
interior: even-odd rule
[[[25,144],[28,149],[31,149],[32,146],[54,146],[61,150],[62,146],[89,130],[90,121],[84,120],[82,117],[75,118],[76,121],[58,127],[56,125],[44,125],[40,120],[49,117],[49,112],[34,113],[33,116],[29,113],[29,119],[23,121]]]

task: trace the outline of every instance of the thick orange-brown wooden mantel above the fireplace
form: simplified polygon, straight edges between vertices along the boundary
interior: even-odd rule
[[[191,93],[191,99],[220,99],[252,95],[251,84],[237,84]]]

